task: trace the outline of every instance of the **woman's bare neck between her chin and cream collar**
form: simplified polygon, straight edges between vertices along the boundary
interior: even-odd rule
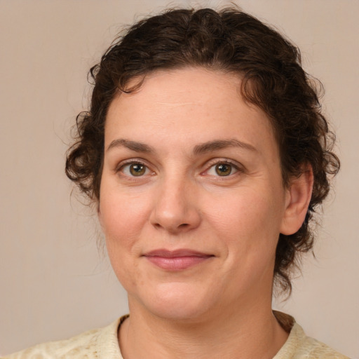
[[[130,313],[118,337],[124,359],[271,359],[288,336],[263,303],[191,321],[159,318],[131,302]]]

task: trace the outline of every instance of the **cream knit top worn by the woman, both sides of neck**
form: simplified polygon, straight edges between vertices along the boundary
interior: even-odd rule
[[[349,359],[320,341],[307,337],[292,317],[279,312],[275,315],[285,329],[287,326],[291,329],[287,328],[290,335],[273,359]],[[126,318],[128,316],[123,316],[107,327],[90,330],[71,339],[39,344],[3,359],[123,359],[117,332]]]

